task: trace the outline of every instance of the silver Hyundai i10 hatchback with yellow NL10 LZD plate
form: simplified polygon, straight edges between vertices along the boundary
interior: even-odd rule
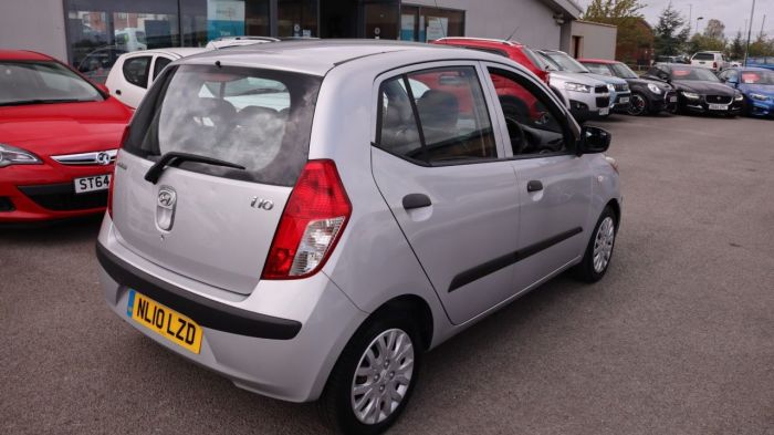
[[[426,351],[566,269],[605,275],[621,207],[609,142],[472,50],[292,41],[181,59],[124,136],[102,289],[237,386],[379,433]]]

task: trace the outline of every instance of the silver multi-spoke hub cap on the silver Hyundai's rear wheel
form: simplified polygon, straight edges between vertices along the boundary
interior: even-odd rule
[[[402,402],[414,374],[414,344],[399,329],[380,333],[366,348],[352,381],[352,408],[362,423],[377,424]]]

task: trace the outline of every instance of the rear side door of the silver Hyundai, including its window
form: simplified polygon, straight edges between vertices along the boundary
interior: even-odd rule
[[[437,63],[375,84],[374,178],[456,324],[514,293],[520,194],[482,74]]]

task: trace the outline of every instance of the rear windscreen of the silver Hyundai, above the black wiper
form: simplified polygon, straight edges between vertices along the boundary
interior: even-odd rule
[[[132,122],[124,148],[150,160],[180,152],[234,163],[181,168],[293,186],[308,157],[322,77],[270,70],[181,65],[161,75]]]

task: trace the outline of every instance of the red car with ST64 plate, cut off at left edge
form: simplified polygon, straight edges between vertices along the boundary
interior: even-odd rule
[[[104,211],[130,116],[70,66],[0,50],[0,222]]]

